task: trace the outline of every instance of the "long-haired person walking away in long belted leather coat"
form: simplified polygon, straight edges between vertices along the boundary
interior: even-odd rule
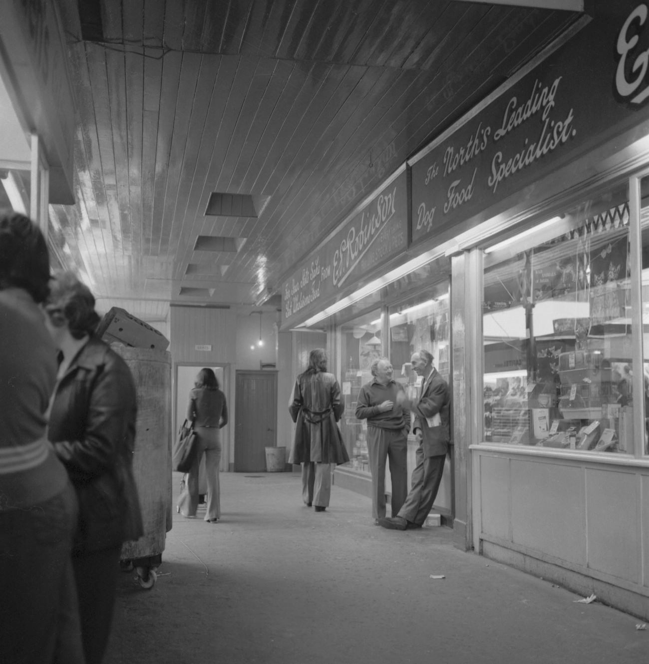
[[[298,376],[288,411],[296,423],[290,463],[302,463],[302,499],[316,512],[329,507],[331,463],[346,463],[349,455],[336,424],[344,406],[335,376],[327,373],[327,353],[309,353],[308,369]]]

